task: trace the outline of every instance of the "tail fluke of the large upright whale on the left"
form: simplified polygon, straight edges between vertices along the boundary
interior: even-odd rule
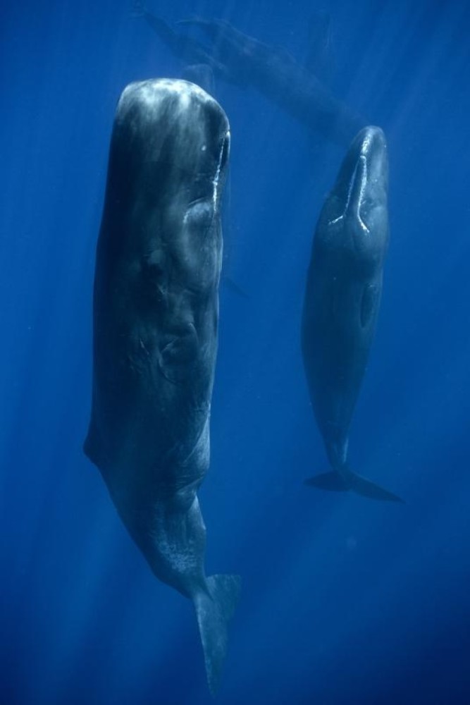
[[[227,651],[227,625],[240,598],[238,575],[211,575],[207,578],[209,594],[200,592],[194,598],[199,634],[201,635],[207,682],[212,695],[220,684]]]

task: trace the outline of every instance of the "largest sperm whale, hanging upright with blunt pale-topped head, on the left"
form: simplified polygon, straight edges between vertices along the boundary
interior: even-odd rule
[[[204,572],[228,120],[183,80],[128,85],[111,137],[94,278],[85,453],[159,580],[194,603],[218,687],[240,579]]]

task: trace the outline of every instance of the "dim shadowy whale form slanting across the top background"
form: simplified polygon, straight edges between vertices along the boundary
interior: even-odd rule
[[[145,6],[135,4],[142,16],[175,56],[185,63],[211,66],[216,78],[241,87],[254,87],[287,114],[339,145],[347,146],[365,121],[285,49],[249,37],[226,20],[181,20],[179,25],[198,27],[211,44],[175,32]],[[326,30],[324,30],[326,32]],[[314,63],[310,58],[309,63]]]

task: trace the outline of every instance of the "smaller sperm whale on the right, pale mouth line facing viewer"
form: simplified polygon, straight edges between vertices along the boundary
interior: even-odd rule
[[[401,501],[352,472],[347,444],[376,331],[388,246],[388,156],[380,128],[354,138],[316,226],[302,317],[311,403],[331,472],[307,484]]]

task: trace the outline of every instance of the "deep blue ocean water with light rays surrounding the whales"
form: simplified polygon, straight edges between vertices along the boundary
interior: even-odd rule
[[[221,705],[470,704],[470,12],[462,0],[175,0],[302,62],[332,23],[331,90],[390,154],[390,250],[350,439],[406,500],[304,486],[326,470],[299,329],[344,149],[254,90],[230,119],[207,572],[242,575]],[[182,64],[128,2],[1,10],[0,704],[202,705],[192,606],[158,582],[82,453],[92,278],[116,101]],[[333,61],[333,59],[332,59]]]

